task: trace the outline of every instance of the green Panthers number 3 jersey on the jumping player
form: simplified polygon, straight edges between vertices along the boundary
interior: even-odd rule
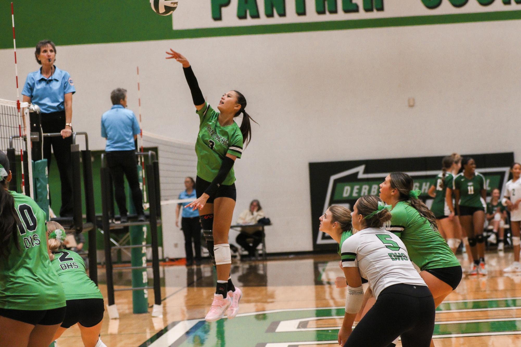
[[[235,122],[221,126],[218,122],[219,112],[215,111],[208,102],[196,113],[199,114],[201,120],[199,135],[195,142],[197,176],[212,182],[217,176],[226,153],[241,158],[242,133]],[[235,173],[232,167],[222,184],[231,185],[233,182],[235,182]]]

